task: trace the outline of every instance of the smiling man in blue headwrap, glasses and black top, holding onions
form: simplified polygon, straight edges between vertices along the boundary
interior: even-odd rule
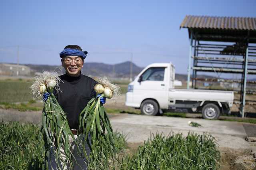
[[[88,101],[92,99],[96,93],[94,91],[94,85],[97,83],[94,79],[82,75],[81,69],[84,64],[84,59],[86,58],[87,51],[82,51],[81,47],[78,45],[67,45],[62,52],[60,52],[60,57],[62,66],[66,70],[66,74],[60,75],[60,92],[54,91],[54,95],[62,107],[63,111],[66,113],[68,125],[74,134],[76,140],[78,137],[78,118],[80,112],[86,107]],[[44,99],[47,100],[49,94],[44,94]],[[106,102],[106,98],[100,98],[101,103]],[[70,137],[70,150],[74,155],[76,161],[73,161],[74,170],[87,169],[86,160],[84,160],[84,155],[79,155],[77,151],[77,146],[73,139]],[[78,147],[81,148],[81,143],[78,143]],[[48,166],[50,170],[58,169],[55,160],[56,148],[52,146],[50,160],[48,160]],[[89,156],[90,148],[86,144],[86,153]],[[64,167],[64,169],[69,169],[69,167]]]

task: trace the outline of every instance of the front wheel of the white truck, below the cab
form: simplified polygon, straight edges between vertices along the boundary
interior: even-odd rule
[[[142,115],[155,116],[159,110],[158,104],[153,100],[145,100],[140,106]]]

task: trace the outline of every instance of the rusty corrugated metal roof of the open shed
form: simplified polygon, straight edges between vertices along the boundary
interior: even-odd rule
[[[256,18],[188,15],[184,18],[180,28],[209,28],[256,31]]]

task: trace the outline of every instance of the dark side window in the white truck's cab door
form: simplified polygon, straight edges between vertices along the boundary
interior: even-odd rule
[[[142,81],[164,81],[165,67],[151,67],[142,74]]]

